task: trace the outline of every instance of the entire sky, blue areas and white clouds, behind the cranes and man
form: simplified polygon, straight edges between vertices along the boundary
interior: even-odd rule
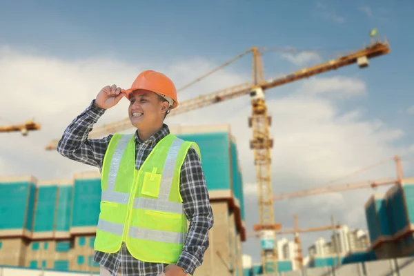
[[[0,137],[0,173],[70,177],[73,171],[83,170],[71,161],[45,153],[43,146],[59,138],[101,87],[112,81],[128,86],[143,68],[166,69],[172,75],[177,71],[179,87],[252,46],[317,48],[321,49],[321,60],[327,61],[334,51],[350,52],[369,43],[368,34],[373,28],[378,28],[382,39],[386,36],[391,53],[371,59],[369,68],[347,66],[268,91],[268,106],[275,115],[274,178],[276,183],[289,184],[275,185],[280,185],[279,190],[309,188],[395,152],[408,152],[414,145],[411,1],[105,2],[0,0],[0,76],[6,76],[6,91],[20,91],[19,96],[10,95],[10,102],[0,103],[0,123],[4,124],[1,119],[5,117],[35,117],[43,123],[42,132],[29,137]],[[266,53],[266,79],[318,61],[311,59],[305,64],[298,57],[292,60],[296,63],[280,52]],[[193,97],[250,81],[250,70],[250,57],[244,57],[221,75],[216,73],[207,83],[182,95]],[[63,99],[67,103],[62,104]],[[246,99],[170,120],[180,123],[186,118],[194,124],[216,124],[226,118],[232,124],[240,156],[245,159],[242,170],[249,197],[246,209],[251,209],[250,217],[246,215],[250,230],[257,222],[257,210],[254,187],[249,186],[255,177],[252,152],[246,146],[251,136],[246,127],[250,112]],[[14,108],[14,104],[21,108]],[[230,112],[236,107],[241,111]],[[411,107],[413,114],[408,112]],[[108,122],[122,119],[126,113],[115,108],[105,116],[102,120]],[[328,146],[315,144],[319,139]],[[322,161],[315,164],[313,158]],[[377,170],[374,177],[384,171]],[[386,171],[393,172],[393,168]],[[406,170],[408,175],[410,172]],[[345,194],[321,197],[326,200],[327,210],[320,209],[317,199],[286,203],[282,208],[288,218],[281,218],[283,225],[292,226],[293,213],[303,218],[301,226],[325,225],[333,212],[340,221],[366,228],[362,206],[371,191]],[[309,212],[313,208],[325,218],[312,217],[315,214]],[[349,215],[344,215],[344,210]],[[302,238],[305,250],[318,236]],[[258,260],[257,244],[246,244],[246,252],[253,252]]]

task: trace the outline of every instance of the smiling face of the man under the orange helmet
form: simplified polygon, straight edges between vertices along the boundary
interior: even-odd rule
[[[136,128],[152,128],[164,121],[164,111],[168,103],[159,101],[155,92],[148,90],[135,90],[130,94],[128,115],[131,124]]]

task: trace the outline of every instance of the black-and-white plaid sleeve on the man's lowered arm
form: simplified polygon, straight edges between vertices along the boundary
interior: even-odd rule
[[[201,266],[208,248],[208,230],[213,227],[213,210],[204,179],[203,168],[197,152],[188,150],[181,166],[180,193],[184,204],[184,213],[190,221],[186,244],[184,244],[177,266],[193,275],[197,266]]]

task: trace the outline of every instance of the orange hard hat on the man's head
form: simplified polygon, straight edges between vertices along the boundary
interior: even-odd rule
[[[134,83],[132,83],[131,88],[124,90],[126,98],[129,99],[130,93],[138,89],[149,90],[164,97],[170,103],[171,108],[178,106],[177,90],[174,83],[160,72],[155,72],[154,70],[141,72]]]

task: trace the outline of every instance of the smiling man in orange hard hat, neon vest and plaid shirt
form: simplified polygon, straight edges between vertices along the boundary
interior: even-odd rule
[[[130,101],[135,134],[87,139],[105,110],[123,97]],[[164,124],[177,106],[174,83],[146,70],[128,90],[102,88],[57,145],[64,157],[101,171],[94,244],[101,275],[193,275],[203,262],[213,212],[197,144],[170,134]]]

